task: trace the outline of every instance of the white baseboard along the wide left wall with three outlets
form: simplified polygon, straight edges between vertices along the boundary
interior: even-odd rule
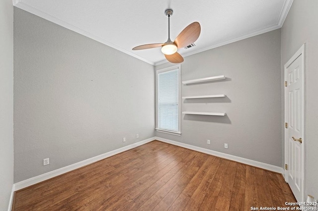
[[[64,174],[64,173],[72,171],[72,170],[75,170],[75,169],[83,167],[85,165],[91,164],[91,163],[96,162],[98,160],[105,159],[105,158],[114,156],[116,154],[125,152],[127,150],[139,147],[141,145],[144,145],[144,144],[146,144],[148,142],[151,142],[151,141],[154,141],[154,140],[155,140],[155,137],[152,137],[152,138],[137,142],[135,144],[131,144],[131,145],[119,148],[117,150],[113,150],[111,152],[104,153],[102,155],[99,155],[99,156],[96,156],[96,157],[93,157],[93,158],[88,158],[88,159],[85,159],[83,161],[80,161],[80,162],[77,162],[77,163],[74,163],[74,164],[71,164],[71,165],[68,165],[68,166],[65,166],[65,167],[50,171],[50,172],[47,172],[45,174],[41,174],[39,176],[35,176],[35,177],[30,178],[30,179],[26,179],[26,180],[23,180],[21,182],[14,183],[14,185],[13,185],[14,191],[26,188],[28,186],[34,185],[34,184],[39,183],[39,182],[43,182],[43,181],[45,181],[47,179],[51,179],[53,177],[59,176],[61,174]]]

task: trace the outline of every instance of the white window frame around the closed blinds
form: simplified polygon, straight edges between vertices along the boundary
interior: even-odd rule
[[[168,72],[172,70],[178,69],[178,89],[179,89],[179,96],[178,96],[178,131],[166,130],[158,128],[158,115],[159,115],[159,100],[158,100],[158,75],[163,72]],[[156,131],[161,133],[167,133],[171,135],[181,136],[181,65],[174,65],[167,68],[159,69],[156,71]]]

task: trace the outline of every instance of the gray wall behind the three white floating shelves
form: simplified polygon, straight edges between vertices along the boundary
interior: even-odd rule
[[[182,96],[226,94],[226,98],[182,100],[182,111],[226,112],[226,116],[181,115],[181,136],[156,136],[241,158],[282,165],[280,29],[187,56],[181,80],[225,75],[225,81],[181,85]],[[156,70],[170,66],[165,63]],[[207,139],[211,145],[207,145]],[[229,149],[224,149],[227,143]]]

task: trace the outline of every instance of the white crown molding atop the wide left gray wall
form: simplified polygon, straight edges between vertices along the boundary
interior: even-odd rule
[[[70,30],[72,30],[74,32],[77,32],[77,33],[79,33],[79,34],[81,34],[81,35],[83,35],[85,37],[93,39],[93,40],[95,40],[95,41],[97,41],[99,43],[102,43],[102,44],[106,45],[106,46],[109,46],[109,47],[111,47],[113,49],[116,49],[116,50],[118,50],[120,52],[123,52],[123,53],[126,53],[128,55],[131,55],[131,56],[133,56],[135,58],[138,58],[138,59],[140,59],[140,60],[142,60],[144,62],[147,62],[147,63],[149,63],[151,65],[155,65],[155,62],[152,62],[152,61],[150,61],[148,59],[145,59],[145,58],[143,58],[143,57],[141,57],[139,55],[131,53],[131,52],[129,52],[129,51],[123,49],[123,48],[120,48],[119,46],[116,46],[116,45],[114,45],[114,44],[112,44],[110,42],[107,42],[106,40],[104,40],[104,39],[102,39],[102,38],[100,38],[98,36],[90,34],[89,32],[86,32],[86,31],[84,31],[82,29],[79,29],[78,27],[76,27],[76,26],[74,26],[72,24],[69,24],[69,23],[67,23],[65,21],[62,21],[61,19],[59,19],[57,17],[54,17],[52,15],[49,15],[49,14],[37,9],[37,8],[34,8],[34,7],[30,6],[30,5],[22,2],[21,0],[13,0],[13,5],[18,7],[18,8],[20,8],[20,9],[23,9],[23,10],[25,10],[27,12],[30,12],[30,13],[32,13],[34,15],[37,15],[37,16],[39,16],[41,18],[44,18],[44,19],[46,19],[48,21],[51,21],[51,22],[56,23],[56,24],[58,24],[60,26],[63,26],[64,28],[67,28],[67,29],[70,29]]]

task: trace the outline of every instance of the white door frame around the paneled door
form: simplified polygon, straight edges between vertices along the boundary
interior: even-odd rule
[[[302,143],[303,147],[302,147],[302,154],[303,154],[303,163],[302,163],[302,176],[303,176],[303,181],[302,181],[302,190],[301,190],[301,195],[302,195],[302,202],[306,202],[305,199],[305,185],[306,185],[306,91],[305,91],[305,82],[306,82],[306,71],[305,71],[305,50],[306,50],[306,43],[302,45],[302,47],[286,62],[286,64],[284,65],[284,82],[287,81],[287,68],[293,63],[293,61],[298,58],[299,56],[301,56],[302,61],[303,61],[303,134],[301,137],[304,137],[304,142]],[[284,108],[285,108],[285,116],[284,116],[284,121],[287,122],[287,89],[284,89]],[[284,125],[285,126],[285,125]],[[288,137],[287,137],[287,130],[284,127],[284,144],[285,144],[285,163],[287,163],[288,161],[288,152],[287,152],[287,143],[288,143]],[[287,170],[284,168],[284,173],[285,173],[285,181],[288,183],[288,172]]]

